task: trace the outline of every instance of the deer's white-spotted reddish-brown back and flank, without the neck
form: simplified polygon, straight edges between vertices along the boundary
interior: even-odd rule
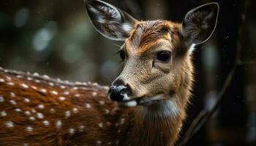
[[[116,105],[107,88],[0,69],[0,145],[97,145]],[[117,117],[115,117],[117,118]],[[86,137],[86,142],[83,142]],[[99,139],[100,138],[100,139]]]

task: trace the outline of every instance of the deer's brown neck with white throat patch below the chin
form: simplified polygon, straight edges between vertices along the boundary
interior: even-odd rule
[[[181,109],[176,101],[166,100],[132,111],[127,145],[173,145],[181,126]]]

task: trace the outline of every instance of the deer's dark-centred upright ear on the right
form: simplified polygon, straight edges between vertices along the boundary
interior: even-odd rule
[[[211,37],[217,25],[219,4],[204,4],[187,12],[181,27],[181,34],[187,45],[199,45]]]

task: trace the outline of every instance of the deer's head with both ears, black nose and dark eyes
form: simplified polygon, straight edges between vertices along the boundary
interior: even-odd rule
[[[100,34],[124,42],[119,50],[124,66],[110,87],[110,99],[124,107],[136,107],[168,100],[186,83],[184,72],[192,68],[187,62],[192,47],[211,37],[219,5],[192,9],[183,23],[139,21],[99,0],[86,1],[86,9]]]

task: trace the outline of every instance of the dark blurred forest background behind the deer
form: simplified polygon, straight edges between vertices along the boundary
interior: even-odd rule
[[[176,22],[189,9],[211,2],[105,1],[138,20]],[[211,109],[237,62],[220,108],[187,145],[256,145],[256,1],[217,2],[220,12],[214,36],[194,53],[196,82],[183,131],[200,110]],[[1,67],[110,85],[120,70],[118,45],[120,42],[111,42],[94,30],[82,0],[0,1]]]

